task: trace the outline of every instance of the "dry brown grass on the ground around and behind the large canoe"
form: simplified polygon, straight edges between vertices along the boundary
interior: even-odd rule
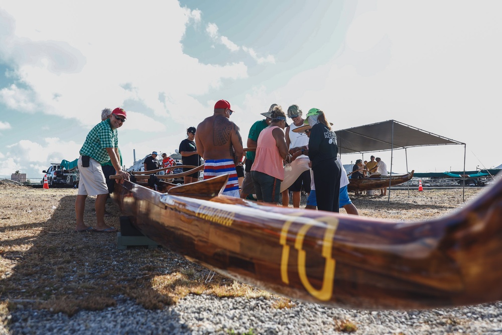
[[[465,199],[479,191],[466,188]],[[17,305],[73,315],[79,309],[114,305],[117,296],[156,309],[190,293],[271,295],[219,275],[209,281],[209,270],[163,248],[118,250],[116,233],[75,233],[76,192],[0,184],[2,317]],[[404,221],[445,215],[464,205],[462,189],[392,190],[390,201],[380,196],[352,196],[352,200],[360,215]],[[106,210],[111,213],[105,218],[107,224],[118,229],[120,213],[113,204]],[[87,199],[85,221],[95,224],[93,197]],[[290,303],[282,299],[278,308]]]

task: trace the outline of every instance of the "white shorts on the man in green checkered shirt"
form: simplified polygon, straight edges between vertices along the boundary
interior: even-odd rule
[[[108,194],[108,186],[104,178],[103,169],[98,161],[90,158],[89,167],[82,166],[82,156],[78,157],[78,195]]]

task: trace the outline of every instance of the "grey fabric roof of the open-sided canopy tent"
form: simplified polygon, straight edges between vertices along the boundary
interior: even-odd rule
[[[464,144],[395,120],[342,129],[335,133],[340,154],[386,151],[431,145]]]

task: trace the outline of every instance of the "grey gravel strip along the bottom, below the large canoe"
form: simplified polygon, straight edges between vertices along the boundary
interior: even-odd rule
[[[147,310],[127,299],[101,311],[72,317],[47,310],[18,309],[10,332],[0,334],[500,334],[502,303],[425,311],[363,311],[294,302],[273,307],[275,298],[190,295],[175,306]]]

